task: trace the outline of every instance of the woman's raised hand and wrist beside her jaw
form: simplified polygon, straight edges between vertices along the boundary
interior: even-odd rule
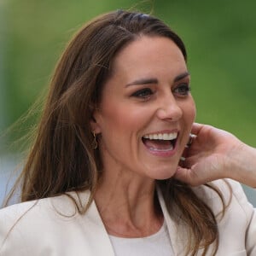
[[[230,177],[256,186],[256,149],[241,143],[227,131],[194,124],[192,144],[186,148],[175,177],[191,185]]]

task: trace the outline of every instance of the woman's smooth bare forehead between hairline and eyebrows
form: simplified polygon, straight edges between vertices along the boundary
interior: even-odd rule
[[[113,60],[113,75],[120,71],[148,72],[157,69],[185,69],[182,51],[170,38],[143,36],[121,49]],[[146,72],[144,70],[144,72]]]

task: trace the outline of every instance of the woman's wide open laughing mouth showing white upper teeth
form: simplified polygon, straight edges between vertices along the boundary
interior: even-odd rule
[[[154,133],[143,136],[144,145],[153,151],[166,152],[175,148],[177,132]]]

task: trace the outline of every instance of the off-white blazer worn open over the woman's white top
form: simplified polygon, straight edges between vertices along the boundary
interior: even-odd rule
[[[229,200],[224,181],[213,182]],[[233,196],[224,218],[218,216],[218,256],[256,256],[256,212],[247,201],[241,185],[230,181]],[[218,214],[222,204],[218,195],[205,186],[195,188],[213,212]],[[71,195],[77,197],[75,192]],[[79,193],[82,203],[90,192]],[[160,206],[166,219],[174,255],[184,255],[187,232],[183,224],[174,223],[162,195]],[[0,210],[1,256],[114,256],[111,241],[93,202],[84,215],[76,211],[67,195],[28,201]],[[201,251],[198,252],[201,255]],[[210,252],[207,255],[211,255]]]

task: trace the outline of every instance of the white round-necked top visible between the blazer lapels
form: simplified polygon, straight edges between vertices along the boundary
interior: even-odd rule
[[[172,256],[171,239],[166,221],[160,230],[152,236],[123,238],[109,236],[116,256]]]

